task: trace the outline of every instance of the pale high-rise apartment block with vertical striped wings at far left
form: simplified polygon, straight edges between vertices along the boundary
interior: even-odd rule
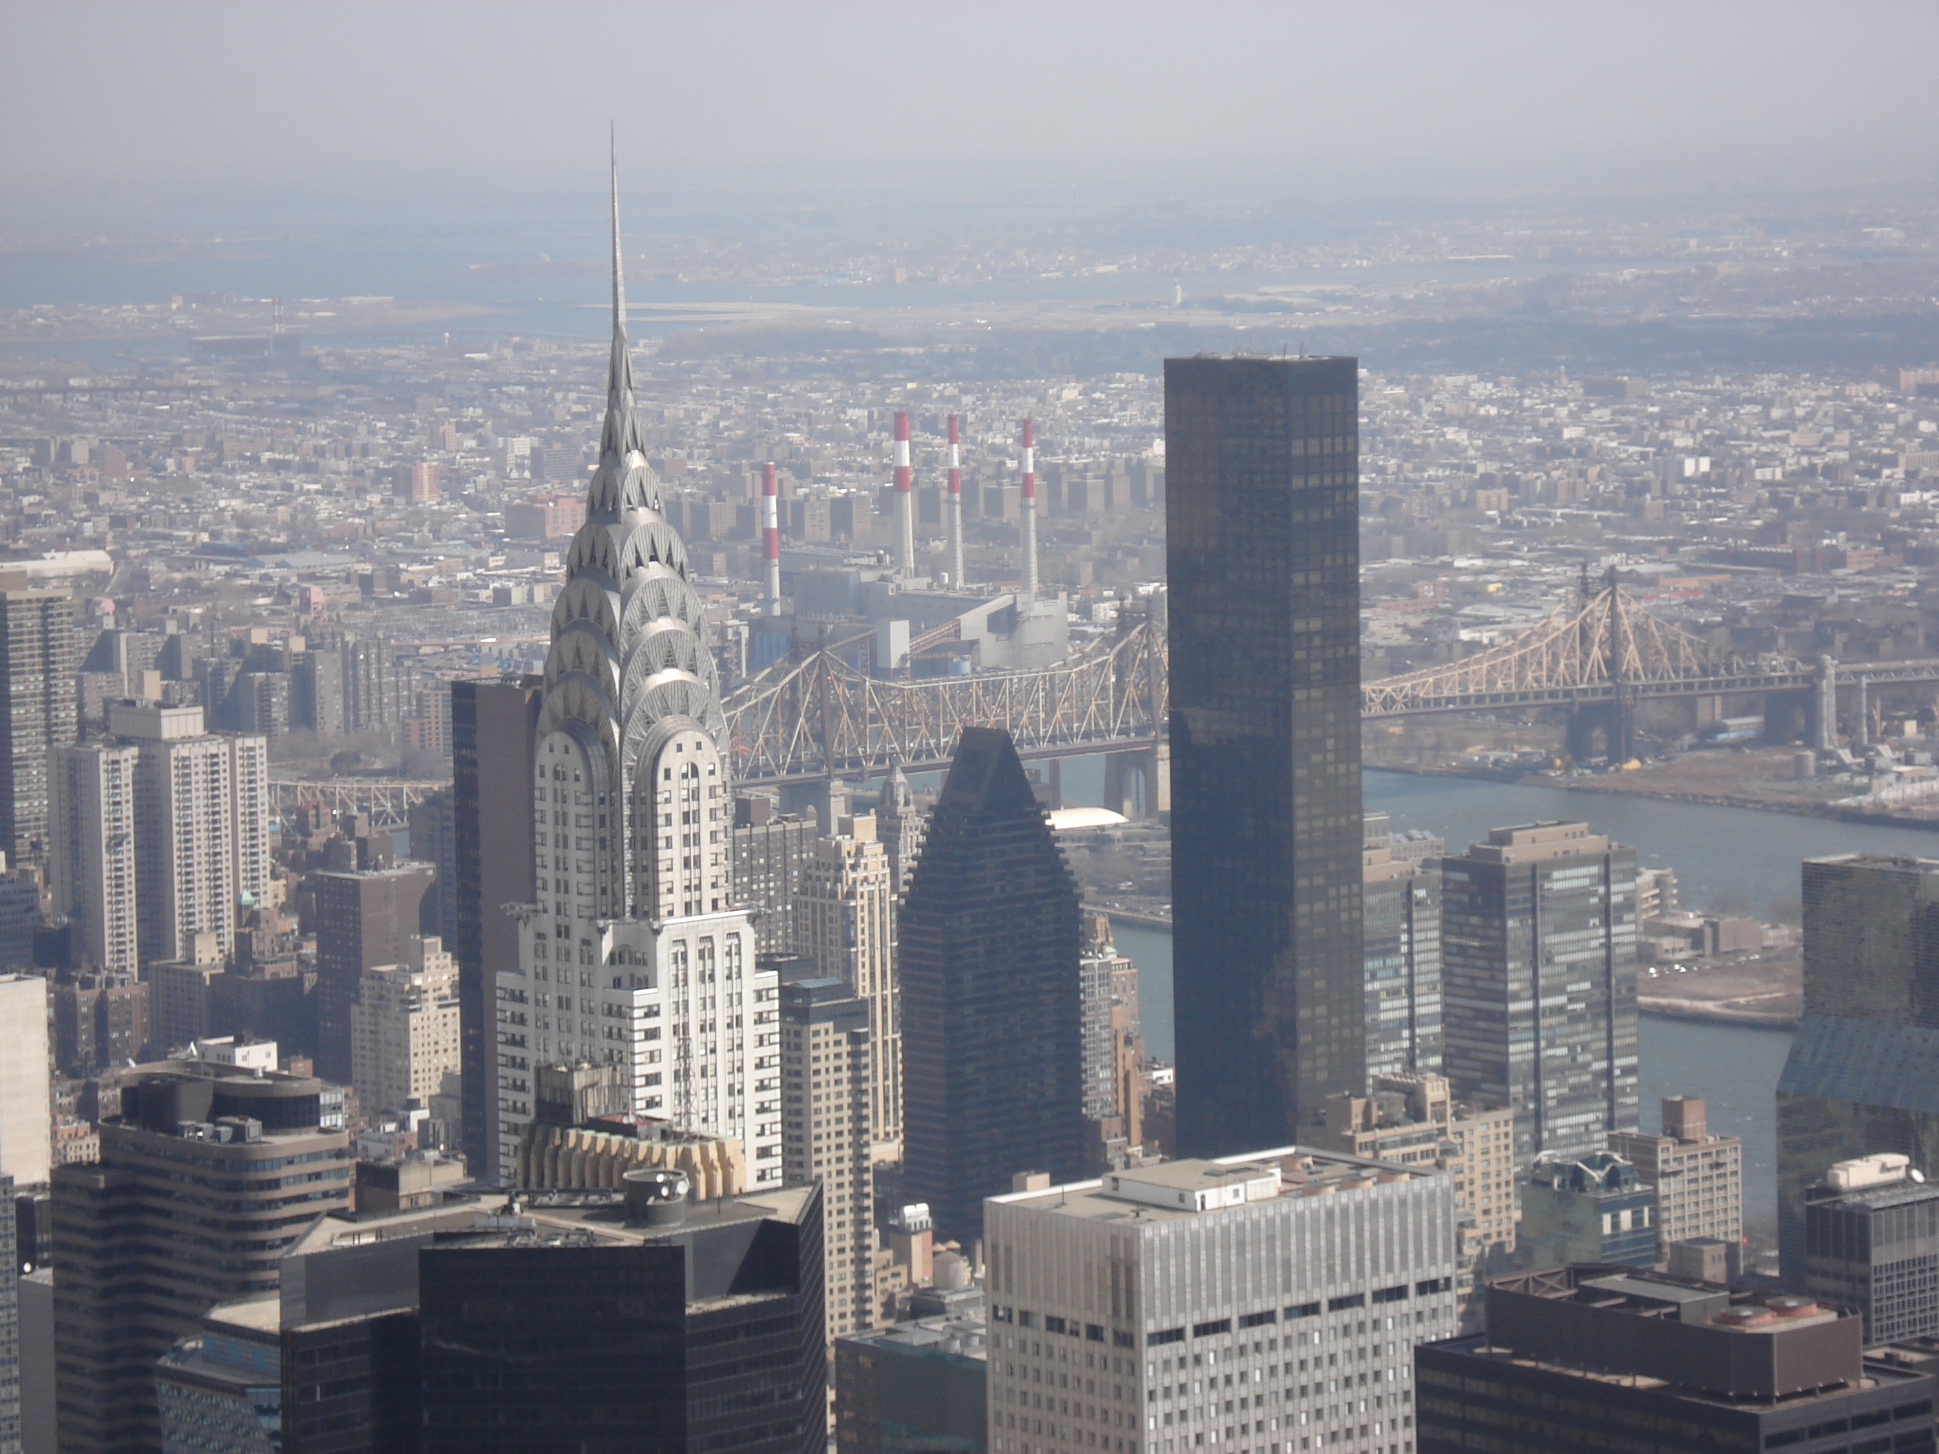
[[[52,772],[52,892],[85,964],[225,958],[270,886],[270,743],[202,708],[111,702],[109,735]]]

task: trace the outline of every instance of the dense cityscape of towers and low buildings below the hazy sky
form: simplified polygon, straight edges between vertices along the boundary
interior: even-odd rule
[[[1933,1446],[1927,213],[640,209],[0,310],[0,1454]]]

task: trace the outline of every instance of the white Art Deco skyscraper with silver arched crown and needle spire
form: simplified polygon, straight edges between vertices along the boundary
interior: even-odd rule
[[[778,981],[756,973],[733,898],[727,719],[706,632],[646,463],[615,182],[605,428],[553,605],[533,743],[537,882],[520,965],[498,975],[504,1167],[518,1165],[535,1066],[611,1066],[613,1109],[733,1136],[756,1190],[781,1181]]]

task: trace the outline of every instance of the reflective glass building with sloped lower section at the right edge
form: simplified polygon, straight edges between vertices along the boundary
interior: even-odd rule
[[[1879,1152],[1939,1171],[1939,859],[1807,859],[1805,1014],[1778,1076],[1778,1260],[1805,1285],[1803,1204]]]

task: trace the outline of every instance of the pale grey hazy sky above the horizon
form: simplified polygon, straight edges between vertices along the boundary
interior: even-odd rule
[[[0,0],[0,204],[907,186],[1088,200],[1939,169],[1933,0]],[[4,219],[0,219],[4,225]]]

